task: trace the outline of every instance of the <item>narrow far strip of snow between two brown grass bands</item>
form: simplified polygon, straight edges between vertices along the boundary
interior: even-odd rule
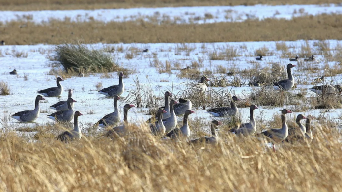
[[[129,21],[144,19],[160,22],[162,20],[176,23],[214,23],[244,21],[246,19],[285,18],[291,19],[302,15],[341,14],[341,5],[255,5],[255,6],[202,6],[202,7],[162,7],[131,9],[97,9],[97,10],[43,10],[43,11],[0,11],[0,21],[11,20],[48,22],[51,19],[71,21],[98,20]]]

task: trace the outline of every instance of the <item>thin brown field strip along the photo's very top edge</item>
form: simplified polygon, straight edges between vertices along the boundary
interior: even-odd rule
[[[133,7],[328,4],[340,0],[1,0],[0,10],[73,10]]]

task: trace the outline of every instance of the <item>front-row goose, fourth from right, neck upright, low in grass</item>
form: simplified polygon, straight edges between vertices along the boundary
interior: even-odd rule
[[[256,121],[254,120],[254,110],[259,109],[256,105],[250,106],[250,122],[242,123],[240,126],[234,127],[228,133],[235,133],[236,135],[243,134],[244,136],[253,135],[256,132]]]

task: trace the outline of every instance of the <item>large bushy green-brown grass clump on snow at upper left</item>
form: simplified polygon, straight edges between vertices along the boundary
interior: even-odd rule
[[[99,50],[89,49],[86,45],[76,41],[75,44],[61,44],[55,48],[52,58],[55,66],[63,67],[65,71],[99,72],[100,70],[120,71],[120,67],[113,62],[112,55]]]

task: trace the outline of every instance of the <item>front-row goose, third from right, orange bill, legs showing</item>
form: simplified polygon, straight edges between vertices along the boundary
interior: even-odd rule
[[[283,109],[282,110],[282,128],[281,129],[270,129],[263,131],[261,133],[256,134],[256,138],[258,139],[267,139],[272,142],[273,150],[274,143],[279,143],[285,140],[285,138],[288,136],[288,127],[285,121],[285,114],[292,113],[290,110]]]

